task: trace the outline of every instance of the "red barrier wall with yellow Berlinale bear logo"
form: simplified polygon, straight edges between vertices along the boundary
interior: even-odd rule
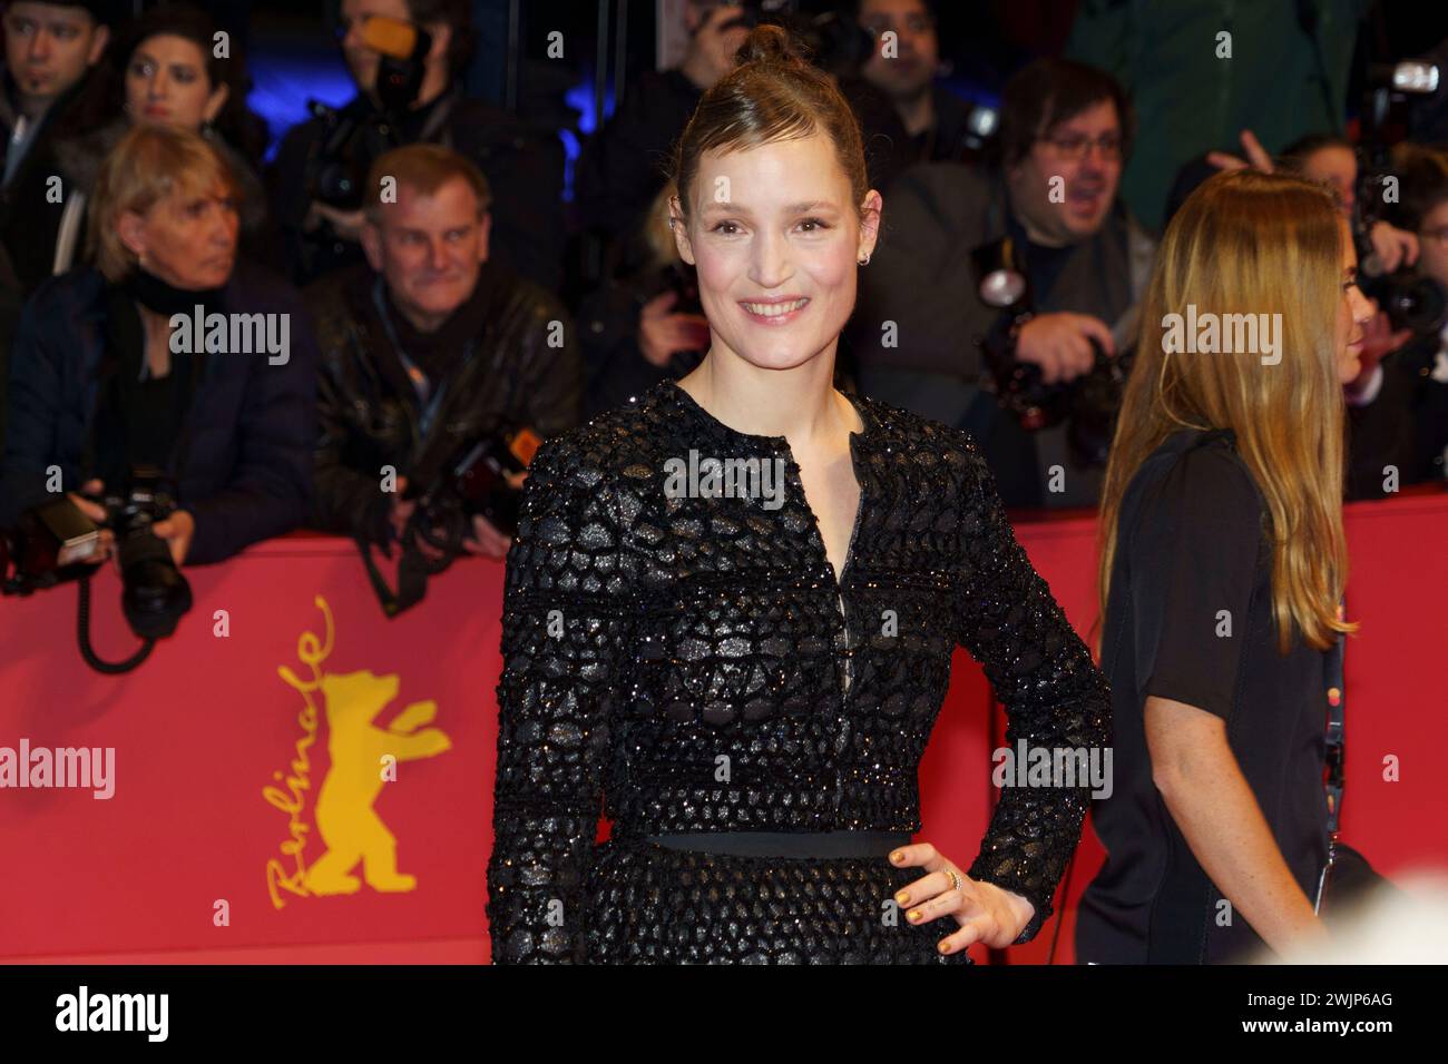
[[[1429,759],[1448,748],[1448,498],[1348,512],[1348,612],[1364,634],[1347,656],[1345,834],[1389,874],[1442,867],[1448,798]],[[1018,534],[1085,634],[1090,520],[1022,521]],[[35,777],[85,786],[0,789],[12,856],[0,958],[487,960],[501,576],[500,563],[459,563],[388,621],[350,544],[287,537],[188,570],[191,614],[119,677],[80,659],[74,585],[0,601],[0,773],[22,744],[41,764],[33,751],[96,754],[62,754]],[[119,594],[111,570],[94,580],[103,657],[133,647]],[[957,653],[921,770],[918,840],[961,866],[993,802],[1002,735],[979,669]],[[1072,958],[1070,900],[1100,858],[1087,828],[1057,963]],[[1044,961],[1054,929],[1008,958]]]

